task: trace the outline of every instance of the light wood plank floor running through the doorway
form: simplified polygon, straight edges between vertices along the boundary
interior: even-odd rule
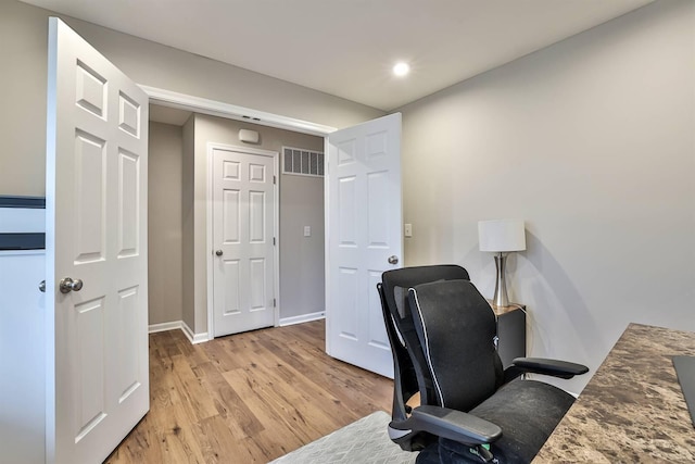
[[[393,383],[324,352],[324,322],[190,344],[150,335],[150,412],[106,460],[265,463],[374,411]]]

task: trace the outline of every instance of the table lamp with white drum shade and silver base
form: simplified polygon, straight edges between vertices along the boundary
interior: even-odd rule
[[[478,238],[480,251],[491,251],[495,254],[497,279],[495,280],[495,296],[492,304],[501,308],[509,305],[507,297],[507,281],[505,279],[505,262],[510,251],[526,250],[526,233],[521,220],[493,220],[478,222]]]

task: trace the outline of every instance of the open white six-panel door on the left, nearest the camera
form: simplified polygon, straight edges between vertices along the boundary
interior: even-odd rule
[[[102,462],[150,406],[147,124],[147,95],[51,17],[47,462]]]

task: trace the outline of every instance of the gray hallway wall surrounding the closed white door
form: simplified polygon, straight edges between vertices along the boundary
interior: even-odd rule
[[[248,128],[261,134],[260,143],[250,148],[281,151],[282,146],[323,151],[324,139],[282,129],[263,127],[215,116],[194,114],[194,160],[190,168],[190,153],[185,153],[186,178],[185,215],[192,228],[185,229],[185,247],[192,247],[192,265],[186,262],[186,273],[192,269],[194,294],[193,312],[187,308],[184,321],[195,334],[207,330],[207,255],[206,199],[207,199],[207,142],[228,143],[237,147],[245,143],[238,138],[239,129]],[[190,124],[190,121],[189,121]],[[185,143],[190,134],[186,133]],[[188,150],[185,149],[185,151]],[[191,173],[192,177],[191,177]],[[280,318],[298,316],[324,310],[324,190],[321,179],[280,176]],[[191,188],[190,181],[193,181]],[[292,216],[292,217],[290,217]],[[304,239],[303,226],[311,225],[313,237]],[[189,255],[190,258],[190,255]],[[190,266],[190,267],[189,267]],[[188,275],[188,274],[187,274]],[[186,305],[191,297],[186,297]],[[192,317],[191,317],[192,316]]]

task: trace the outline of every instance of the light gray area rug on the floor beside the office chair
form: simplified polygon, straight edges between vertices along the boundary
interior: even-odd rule
[[[274,464],[410,464],[417,453],[403,451],[389,438],[391,416],[383,411],[371,413],[330,435],[312,441],[277,460]]]

